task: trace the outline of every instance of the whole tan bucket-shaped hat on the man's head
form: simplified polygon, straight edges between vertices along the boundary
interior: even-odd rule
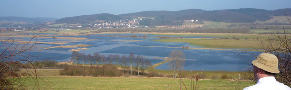
[[[274,54],[262,53],[252,62],[256,67],[270,73],[280,73],[278,69],[278,58]]]

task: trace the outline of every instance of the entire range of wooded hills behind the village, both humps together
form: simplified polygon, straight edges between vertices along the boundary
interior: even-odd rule
[[[90,23],[97,20],[112,21],[137,17],[150,17],[161,21],[184,21],[184,20],[204,20],[216,22],[229,22],[229,23],[253,23],[256,20],[267,21],[272,19],[272,16],[285,16],[283,12],[291,11],[288,9],[278,10],[264,10],[264,9],[227,9],[227,10],[214,10],[205,11],[201,9],[187,9],[180,11],[143,11],[137,13],[128,13],[113,15],[108,13],[82,15],[75,17],[67,17],[56,20],[58,23]]]

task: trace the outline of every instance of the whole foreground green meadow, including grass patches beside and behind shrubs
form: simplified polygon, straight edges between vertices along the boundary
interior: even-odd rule
[[[146,77],[82,77],[82,76],[64,76],[60,75],[59,71],[62,69],[37,69],[38,84],[35,85],[35,77],[25,77],[20,82],[25,83],[28,90],[178,90],[179,78],[146,78]],[[33,75],[33,69],[28,69],[29,73]],[[32,72],[30,72],[32,71]],[[162,74],[171,74],[170,70],[151,70]],[[27,72],[21,70],[20,72]],[[191,71],[184,71],[188,75]],[[193,73],[193,72],[192,72]],[[201,71],[195,71],[195,75]],[[247,80],[239,80],[238,74],[241,76],[246,72],[225,72],[225,71],[203,71],[203,75],[207,77],[217,75],[216,79],[199,79],[195,85],[201,83],[199,90],[242,90],[247,86],[254,85],[254,82]],[[228,79],[220,79],[220,76],[227,74]],[[242,79],[244,77],[241,77]],[[191,88],[191,79],[183,78],[186,88]],[[193,81],[194,82],[194,81]],[[186,90],[184,85],[183,90]]]

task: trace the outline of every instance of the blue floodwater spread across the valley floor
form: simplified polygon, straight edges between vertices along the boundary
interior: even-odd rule
[[[47,34],[50,35],[50,34]],[[159,38],[153,38],[158,35],[147,34],[149,38],[131,38],[131,37],[99,37],[98,35],[126,35],[130,36],[133,34],[91,34],[90,36],[79,35],[79,36],[57,36],[57,37],[86,37],[86,40],[73,40],[73,39],[53,39],[53,38],[37,38],[40,42],[60,42],[66,44],[39,44],[36,45],[38,49],[33,49],[30,52],[33,60],[57,60],[59,62],[68,61],[71,59],[71,49],[78,48],[52,48],[44,49],[47,47],[60,46],[60,45],[78,45],[86,44],[92,45],[86,48],[87,50],[81,50],[80,53],[93,55],[95,52],[108,56],[109,54],[119,54],[120,56],[130,53],[135,55],[142,55],[147,58],[154,65],[164,61],[162,58],[168,57],[169,53],[174,49],[183,51],[187,61],[185,61],[184,70],[201,70],[204,71],[246,71],[247,67],[250,66],[250,62],[244,59],[254,60],[250,54],[259,54],[259,52],[245,52],[245,51],[232,51],[232,50],[205,50],[205,49],[181,49],[182,46],[199,47],[195,45],[189,45],[189,43],[182,42],[156,42],[153,41]],[[136,34],[137,36],[143,36],[143,34]],[[180,37],[180,36],[174,36]],[[203,37],[203,36],[201,36]],[[183,38],[201,38],[200,36],[195,37],[183,37]],[[206,37],[211,38],[211,37]],[[14,38],[17,40],[28,41],[31,38]],[[33,39],[32,41],[36,41]],[[17,43],[17,42],[16,42]],[[23,46],[23,44],[19,44]],[[30,44],[29,44],[30,45]],[[28,45],[27,45],[28,46]],[[174,48],[173,48],[174,47]],[[199,47],[201,48],[201,47]],[[244,59],[242,59],[243,57]],[[168,63],[164,63],[160,66],[155,67],[156,69],[169,70]]]

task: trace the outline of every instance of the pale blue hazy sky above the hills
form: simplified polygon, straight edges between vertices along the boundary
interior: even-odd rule
[[[1,0],[0,16],[64,18],[150,10],[291,8],[291,0]],[[291,12],[291,11],[290,11]]]

